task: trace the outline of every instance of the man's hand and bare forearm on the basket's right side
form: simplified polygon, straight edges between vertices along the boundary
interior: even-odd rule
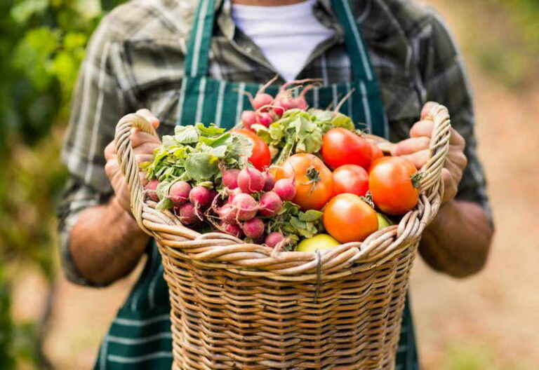
[[[397,143],[392,155],[402,156],[420,169],[429,160],[429,144],[434,123],[425,120],[432,103],[425,104],[420,121],[410,130],[410,139]],[[451,129],[444,181],[443,207],[425,229],[419,245],[423,259],[435,270],[466,277],[484,267],[492,238],[486,212],[477,203],[455,200],[458,184],[467,165],[465,139]]]

